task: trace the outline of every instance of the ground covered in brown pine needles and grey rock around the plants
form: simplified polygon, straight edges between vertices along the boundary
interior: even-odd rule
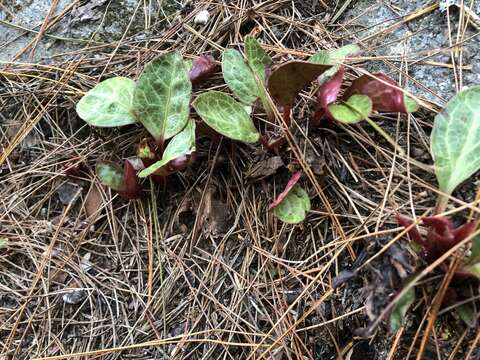
[[[476,307],[470,327],[454,303],[427,330],[435,270],[398,332],[384,312],[425,268],[395,214],[428,213],[438,192],[409,159],[432,163],[435,114],[480,84],[480,1],[443,3],[0,1],[0,358],[480,359],[478,282],[454,285]],[[167,51],[219,60],[249,34],[275,62],[358,44],[347,79],[382,71],[422,103],[373,117],[407,155],[363,123],[313,127],[305,89],[289,130],[298,151],[200,139],[197,161],[164,187],[145,182],[143,200],[101,186],[95,163],[132,156],[146,132],[86,125],[81,96]],[[196,91],[208,88],[228,91],[220,71]],[[312,211],[285,225],[268,205],[305,166]],[[456,220],[479,184],[454,193]],[[355,276],[339,283],[344,270]]]

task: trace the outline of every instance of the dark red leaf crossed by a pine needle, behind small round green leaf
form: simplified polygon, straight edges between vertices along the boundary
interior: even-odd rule
[[[404,93],[398,89],[395,80],[382,73],[363,75],[352,82],[344,98],[352,95],[367,95],[372,99],[373,110],[381,112],[407,113]]]

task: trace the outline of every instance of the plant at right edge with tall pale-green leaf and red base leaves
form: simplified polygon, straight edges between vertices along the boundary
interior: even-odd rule
[[[478,217],[465,220],[454,226],[453,221],[440,215],[446,209],[453,191],[480,169],[480,86],[463,90],[457,94],[435,118],[430,139],[431,153],[434,160],[435,174],[440,195],[433,216],[421,219],[425,226],[423,236],[413,221],[398,215],[400,225],[408,229],[408,235],[420,249],[420,255],[427,263],[433,263],[447,251],[467,238],[472,238],[468,255],[455,269],[454,280],[480,278],[480,236],[474,236],[478,226]],[[440,269],[447,272],[450,261],[440,264]],[[400,327],[403,316],[415,299],[414,283],[406,285],[404,296],[397,299],[390,318],[392,329]],[[450,296],[456,297],[453,288]],[[458,308],[460,317],[467,323],[469,304]]]

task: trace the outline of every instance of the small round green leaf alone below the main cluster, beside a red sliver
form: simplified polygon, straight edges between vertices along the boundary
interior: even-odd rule
[[[310,198],[300,185],[295,185],[273,209],[273,214],[287,224],[298,224],[310,211]]]

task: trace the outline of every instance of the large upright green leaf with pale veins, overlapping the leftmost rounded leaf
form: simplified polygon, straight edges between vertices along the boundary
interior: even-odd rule
[[[133,95],[133,113],[155,140],[163,141],[187,124],[191,95],[185,61],[170,52],[145,66]]]

